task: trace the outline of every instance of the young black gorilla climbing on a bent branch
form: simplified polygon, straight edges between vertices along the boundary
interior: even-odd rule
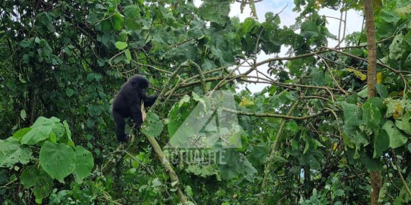
[[[113,117],[116,126],[116,135],[118,141],[127,141],[128,136],[124,133],[125,117],[131,117],[140,129],[143,123],[141,115],[141,102],[144,107],[150,107],[157,99],[157,94],[147,96],[147,88],[150,82],[142,75],[134,75],[121,86],[120,91],[114,97]]]

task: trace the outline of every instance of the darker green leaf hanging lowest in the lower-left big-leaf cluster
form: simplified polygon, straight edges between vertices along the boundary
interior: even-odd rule
[[[34,187],[35,201],[40,201],[40,203],[53,189],[53,179],[43,169],[38,169],[36,166],[26,167],[20,176],[20,181],[25,189]]]

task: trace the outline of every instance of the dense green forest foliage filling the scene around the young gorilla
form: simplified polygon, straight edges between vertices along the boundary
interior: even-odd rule
[[[256,16],[261,1],[237,2]],[[361,11],[362,1],[295,0],[290,27],[281,13],[230,18],[232,3],[1,1],[0,202],[178,204],[181,189],[186,204],[368,204],[369,172],[381,171],[380,202],[410,203],[411,2],[373,1],[370,98],[365,29],[334,36],[318,13]],[[141,132],[127,128],[132,146],[119,146],[110,105],[136,73],[163,101]],[[237,92],[244,83],[267,87]],[[211,109],[216,90],[236,93],[227,112],[238,115],[241,146],[224,149],[224,164],[179,161],[176,181],[153,140],[188,153],[167,141],[196,106]]]

